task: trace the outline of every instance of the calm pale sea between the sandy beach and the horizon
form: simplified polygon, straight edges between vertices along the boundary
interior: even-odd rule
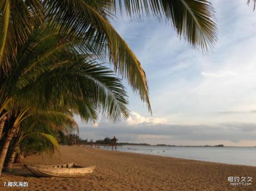
[[[100,148],[111,150],[111,147]],[[256,166],[256,147],[117,146],[117,151]]]

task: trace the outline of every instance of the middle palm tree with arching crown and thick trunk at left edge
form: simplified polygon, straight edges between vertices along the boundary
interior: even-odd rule
[[[10,128],[0,150],[0,168],[20,122],[33,108],[73,112],[86,121],[97,119],[97,111],[114,121],[129,116],[121,80],[86,53],[89,45],[83,47],[82,40],[42,25],[20,47],[12,70],[0,76],[0,91],[11,87],[4,92],[11,100],[4,110],[12,118],[6,123]],[[77,46],[83,47],[83,52],[78,52]]]

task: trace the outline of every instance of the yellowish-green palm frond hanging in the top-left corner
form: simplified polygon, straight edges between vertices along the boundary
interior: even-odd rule
[[[37,0],[4,0],[0,2],[0,13],[0,67],[6,74],[18,46],[25,44],[34,27],[44,20],[44,7]]]

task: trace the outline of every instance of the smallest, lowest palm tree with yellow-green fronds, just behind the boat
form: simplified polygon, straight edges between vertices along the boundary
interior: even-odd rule
[[[55,138],[57,130],[66,134],[78,130],[71,113],[37,111],[22,121],[18,132],[12,139],[13,144],[9,147],[9,155],[5,159],[7,171],[12,171],[16,155],[53,152],[58,148],[58,141]]]

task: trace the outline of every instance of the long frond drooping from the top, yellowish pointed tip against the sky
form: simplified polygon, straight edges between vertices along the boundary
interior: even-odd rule
[[[61,32],[73,31],[78,33],[78,36],[87,32],[91,34],[91,37],[96,35],[99,40],[106,41],[109,61],[114,64],[115,71],[128,80],[133,91],[139,94],[143,102],[147,103],[151,112],[146,74],[140,62],[108,20],[87,2],[89,1],[78,0],[70,3],[65,0],[61,3],[58,1],[45,3],[48,3],[46,7],[49,14],[52,15],[52,24],[59,23],[62,26]],[[57,9],[57,7],[59,8]],[[87,38],[85,39],[87,40]],[[101,44],[105,45],[105,43]]]

